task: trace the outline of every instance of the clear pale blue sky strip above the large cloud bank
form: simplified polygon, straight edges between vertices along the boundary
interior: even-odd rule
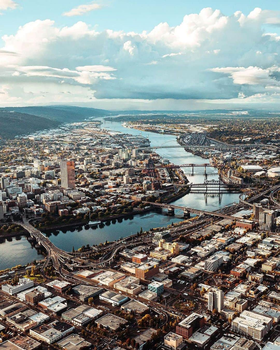
[[[85,15],[65,17],[62,13],[91,1],[76,0],[18,0],[18,9],[8,10],[1,17],[1,33],[13,34],[19,26],[36,19],[52,19],[59,26],[73,25],[77,20],[84,20],[99,30],[112,29],[124,31],[151,30],[160,22],[176,26],[183,16],[198,13],[204,7],[220,9],[225,15],[241,10],[248,15],[255,7],[279,10],[277,0],[246,1],[190,1],[190,0],[102,0],[96,1],[104,7]]]

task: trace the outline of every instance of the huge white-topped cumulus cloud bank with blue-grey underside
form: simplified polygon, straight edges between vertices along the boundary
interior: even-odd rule
[[[68,101],[67,91],[73,102],[275,98],[279,36],[264,24],[279,20],[279,12],[259,8],[248,16],[205,8],[141,33],[36,20],[2,36],[0,80],[11,98],[32,103]]]

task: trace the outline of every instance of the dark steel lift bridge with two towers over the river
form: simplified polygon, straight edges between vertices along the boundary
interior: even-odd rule
[[[203,183],[190,183],[188,186],[192,193],[238,193],[241,187],[248,187],[246,184],[224,183],[219,180],[208,180],[205,174]]]

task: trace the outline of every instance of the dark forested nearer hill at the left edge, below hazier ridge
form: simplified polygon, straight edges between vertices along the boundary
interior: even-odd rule
[[[57,127],[60,122],[33,116],[27,113],[9,112],[0,108],[0,137],[14,138],[16,135]]]

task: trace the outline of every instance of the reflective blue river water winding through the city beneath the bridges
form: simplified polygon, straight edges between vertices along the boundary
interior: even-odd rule
[[[131,128],[125,128],[121,123],[106,121],[102,127],[107,130],[119,131],[132,135],[139,135],[139,131]],[[176,137],[173,135],[162,135],[157,133],[142,132],[142,136],[149,137],[151,146],[177,146]],[[168,158],[176,165],[192,163],[203,164],[207,160],[199,156],[185,152],[184,148],[163,148],[156,151],[163,158]],[[204,181],[204,168],[194,168],[194,174],[191,173],[191,168],[183,168],[187,174],[187,178],[193,183],[202,183]],[[217,169],[209,167],[206,168],[208,179],[218,179]],[[220,195],[204,195],[200,193],[189,193],[182,198],[179,198],[173,204],[186,206],[196,209],[215,210],[223,207],[226,204],[239,201],[239,194],[226,193]],[[112,241],[119,239],[119,237],[129,236],[131,233],[136,233],[142,227],[143,230],[150,228],[157,228],[167,226],[172,222],[182,221],[182,211],[175,211],[175,216],[167,216],[165,212],[160,209],[150,211],[146,214],[136,215],[125,219],[120,219],[111,223],[99,225],[97,228],[76,227],[65,228],[61,230],[47,231],[46,235],[59,248],[71,251],[74,246],[75,249],[82,245],[93,245],[104,242],[105,240]],[[34,259],[42,258],[36,249],[31,249],[30,243],[23,236],[21,239],[3,240],[0,241],[0,269],[14,266],[16,264],[26,264]]]

